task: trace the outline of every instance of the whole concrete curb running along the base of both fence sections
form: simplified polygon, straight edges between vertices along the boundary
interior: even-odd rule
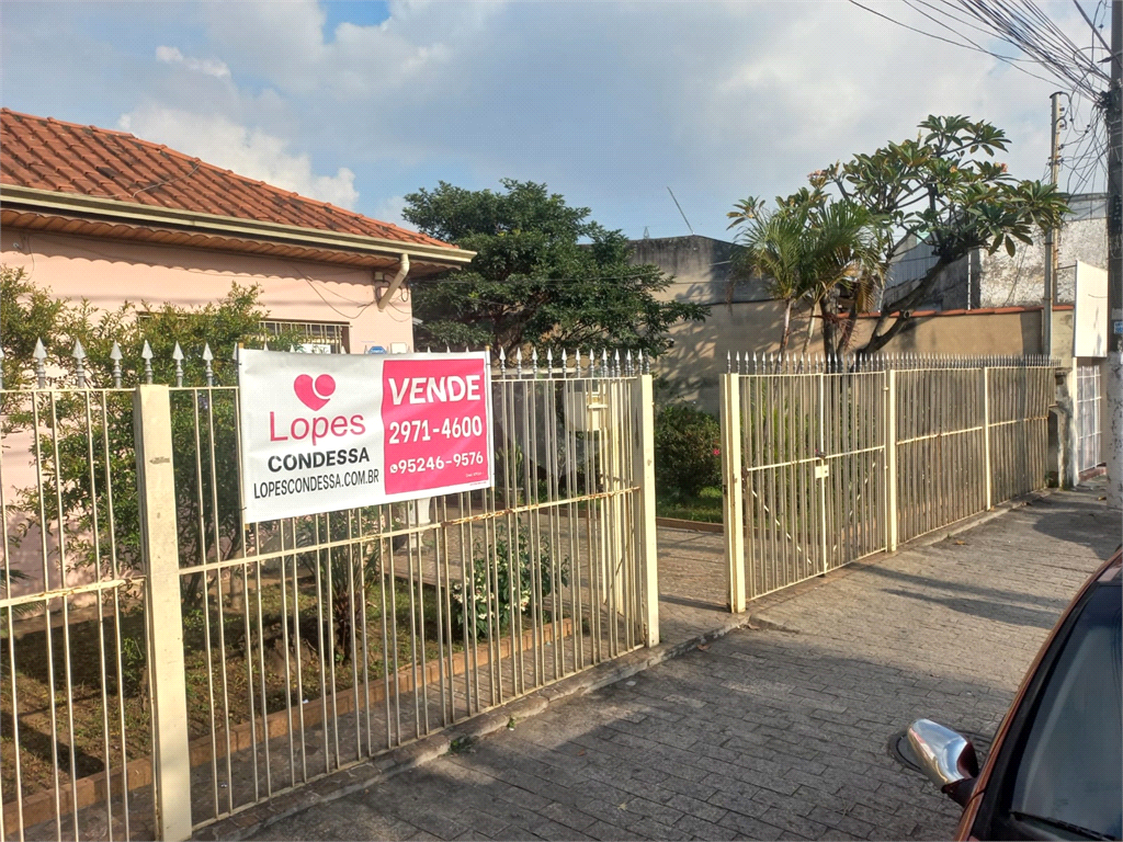
[[[1052,489],[1044,489],[1043,492],[1035,492],[1007,501],[995,506],[989,512],[984,512],[950,527],[937,530],[928,536],[916,538],[898,548],[897,553],[939,543],[952,536],[995,520],[1010,511],[1021,509],[1034,500],[1041,500],[1051,493]],[[675,643],[660,643],[651,649],[637,649],[614,660],[600,663],[583,672],[569,676],[556,684],[536,690],[530,695],[513,699],[492,711],[474,716],[464,723],[445,729],[439,733],[430,734],[408,745],[334,772],[305,786],[285,791],[282,796],[275,797],[271,802],[247,807],[232,816],[201,827],[192,839],[208,841],[243,840],[309,807],[338,800],[363,789],[378,786],[404,771],[448,754],[465,743],[472,743],[497,731],[502,731],[509,726],[512,720],[518,723],[520,720],[537,716],[548,710],[551,704],[582,696],[601,687],[621,681],[637,672],[642,672],[646,669],[677,658],[691,649],[704,644],[706,641],[716,640],[738,629],[748,628],[751,630],[797,633],[783,623],[769,621],[765,616],[766,612],[776,605],[793,600],[807,591],[821,587],[829,582],[833,582],[842,576],[849,576],[862,568],[882,564],[889,556],[897,553],[879,552],[868,556],[846,567],[831,570],[825,576],[792,585],[776,594],[763,596],[752,602],[754,611],[751,613],[730,614],[725,622],[702,634]]]

